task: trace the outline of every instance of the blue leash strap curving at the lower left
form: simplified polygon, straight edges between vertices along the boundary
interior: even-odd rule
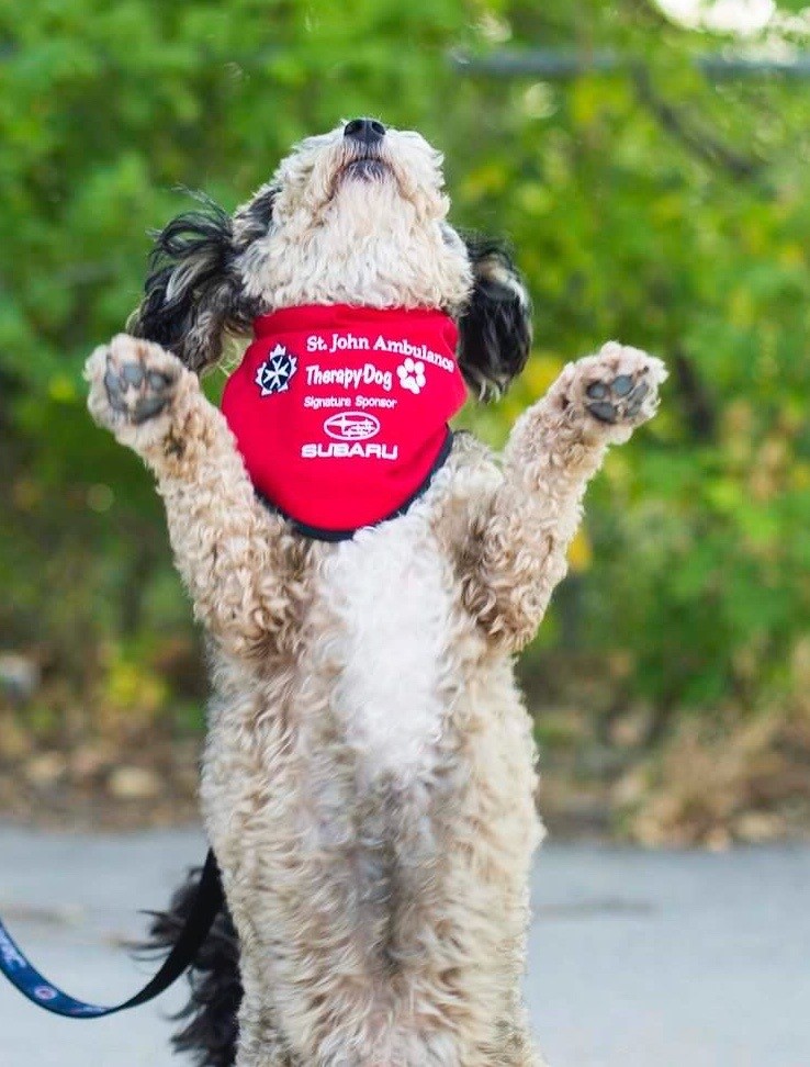
[[[139,992],[122,1004],[115,1004],[111,1008],[88,1004],[83,1000],[77,1000],[75,997],[63,992],[32,966],[11,939],[2,920],[0,920],[0,973],[23,997],[27,997],[33,1003],[53,1012],[55,1015],[64,1015],[67,1019],[101,1019],[103,1015],[114,1015],[119,1011],[137,1008],[139,1004],[154,1000],[180,977],[205,941],[224,900],[216,858],[213,851],[210,851],[205,857],[205,866],[200,878],[194,903],[175,947],[151,981],[147,982]]]

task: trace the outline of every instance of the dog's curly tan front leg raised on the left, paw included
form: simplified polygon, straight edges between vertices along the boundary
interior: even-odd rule
[[[256,499],[233,436],[196,375],[120,334],[87,362],[88,406],[155,473],[194,613],[226,653],[257,660],[295,640],[306,552]]]

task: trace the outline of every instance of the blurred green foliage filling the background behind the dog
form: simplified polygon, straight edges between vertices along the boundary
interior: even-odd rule
[[[450,61],[506,44],[627,61],[554,81]],[[595,562],[541,645],[630,653],[664,709],[784,697],[810,617],[810,82],[713,83],[695,58],[722,44],[643,0],[0,0],[0,644],[46,645],[83,686],[89,649],[188,628],[82,362],[137,302],[178,186],[233,207],[293,141],[372,113],[446,149],[454,221],[510,234],[531,284],[528,373],[469,422],[499,442],[609,337],[672,369],[594,486]]]

